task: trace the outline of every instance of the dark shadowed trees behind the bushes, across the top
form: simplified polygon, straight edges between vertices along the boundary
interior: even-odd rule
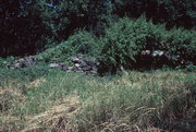
[[[145,13],[167,27],[195,28],[195,0],[1,0],[0,56],[42,51],[81,27],[103,35],[107,25],[124,15]]]

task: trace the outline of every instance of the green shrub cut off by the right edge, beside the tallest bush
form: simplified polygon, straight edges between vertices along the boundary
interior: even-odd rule
[[[171,55],[175,65],[186,65],[188,62],[196,64],[196,32],[185,31],[183,28],[173,28],[164,32],[163,41],[168,45],[168,51]]]

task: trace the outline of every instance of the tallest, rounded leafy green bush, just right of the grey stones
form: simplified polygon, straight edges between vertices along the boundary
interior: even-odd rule
[[[102,37],[103,48],[99,58],[101,64],[114,71],[120,65],[134,67],[137,61],[136,56],[142,50],[162,48],[160,46],[161,31],[163,26],[156,26],[144,17],[137,21],[121,19],[107,28]]]

